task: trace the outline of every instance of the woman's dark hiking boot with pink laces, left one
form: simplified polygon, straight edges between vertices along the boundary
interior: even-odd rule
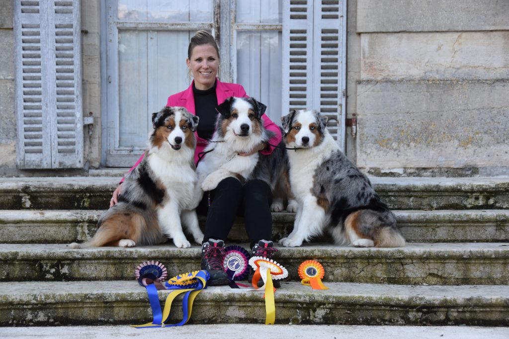
[[[224,241],[209,239],[202,245],[202,270],[210,273],[208,285],[228,285],[230,279],[223,268]]]

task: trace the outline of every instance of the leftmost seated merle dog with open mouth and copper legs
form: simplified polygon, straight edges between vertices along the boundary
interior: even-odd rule
[[[99,218],[90,241],[71,247],[133,247],[163,243],[167,238],[177,247],[190,247],[181,221],[201,244],[204,235],[192,208],[198,122],[184,107],[164,107],[152,114],[149,148],[127,174],[119,203]]]

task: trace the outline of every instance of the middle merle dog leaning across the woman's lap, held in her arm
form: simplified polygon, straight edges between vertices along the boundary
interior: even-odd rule
[[[216,130],[204,150],[206,156],[198,163],[197,205],[204,191],[217,187],[221,180],[234,177],[241,183],[259,179],[269,184],[274,192],[273,211],[282,210],[284,192],[288,191],[288,157],[281,142],[269,155],[249,153],[262,143],[268,143],[274,133],[265,129],[262,116],[267,106],[254,98],[230,97],[216,107]],[[296,203],[289,202],[290,211]]]

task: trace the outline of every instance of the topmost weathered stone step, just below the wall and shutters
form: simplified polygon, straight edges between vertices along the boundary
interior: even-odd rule
[[[509,178],[372,177],[391,209],[509,208]],[[104,209],[118,177],[0,178],[2,209]]]

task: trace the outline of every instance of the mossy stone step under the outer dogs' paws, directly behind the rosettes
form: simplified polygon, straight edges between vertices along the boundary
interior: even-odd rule
[[[242,244],[247,248],[247,244]],[[409,243],[403,248],[331,244],[277,246],[277,261],[299,280],[297,268],[316,259],[324,281],[429,285],[509,284],[507,243]],[[158,260],[169,275],[200,267],[200,246],[71,249],[62,244],[0,244],[0,281],[131,280],[144,261]]]

